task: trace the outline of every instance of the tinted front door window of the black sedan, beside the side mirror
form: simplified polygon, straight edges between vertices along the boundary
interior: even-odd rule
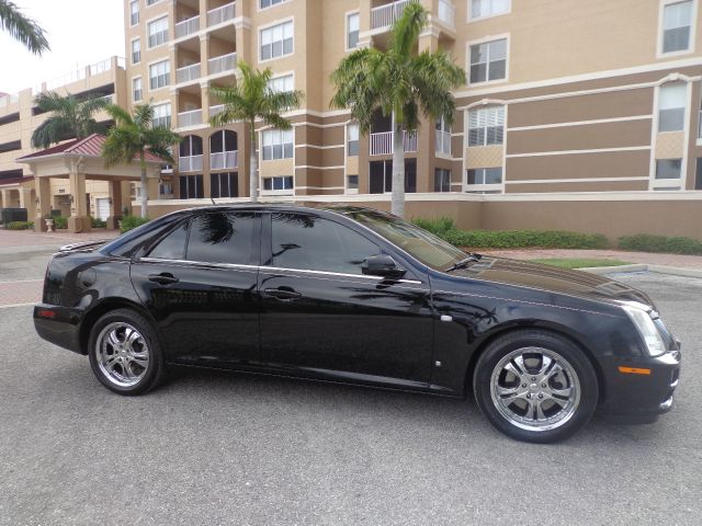
[[[361,263],[380,252],[350,228],[301,214],[273,215],[273,266],[361,274]]]

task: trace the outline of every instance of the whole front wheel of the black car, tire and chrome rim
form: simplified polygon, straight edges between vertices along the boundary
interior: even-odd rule
[[[519,364],[526,366],[523,371]],[[548,366],[551,377],[547,370],[541,374]],[[492,341],[476,364],[473,391],[495,427],[537,444],[571,436],[588,423],[598,402],[597,375],[584,351],[566,338],[536,329]]]

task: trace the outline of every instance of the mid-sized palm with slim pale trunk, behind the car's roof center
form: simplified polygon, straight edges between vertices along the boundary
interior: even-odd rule
[[[229,88],[212,87],[211,93],[222,101],[224,110],[210,119],[213,126],[226,126],[236,121],[249,124],[249,194],[251,202],[258,201],[258,176],[256,157],[256,121],[261,119],[278,129],[291,129],[291,122],[281,113],[299,106],[304,93],[294,91],[275,91],[269,83],[272,71],[251,68],[247,62],[238,64],[240,79]]]

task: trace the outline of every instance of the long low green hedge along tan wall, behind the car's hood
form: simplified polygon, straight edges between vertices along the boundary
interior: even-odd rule
[[[453,219],[415,219],[414,222],[457,247],[471,249],[604,249],[607,237],[566,230],[460,230]]]

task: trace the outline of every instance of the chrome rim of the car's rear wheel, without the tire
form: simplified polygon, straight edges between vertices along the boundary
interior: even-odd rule
[[[98,335],[94,352],[100,371],[120,387],[138,384],[149,365],[146,340],[125,322],[107,324]]]

